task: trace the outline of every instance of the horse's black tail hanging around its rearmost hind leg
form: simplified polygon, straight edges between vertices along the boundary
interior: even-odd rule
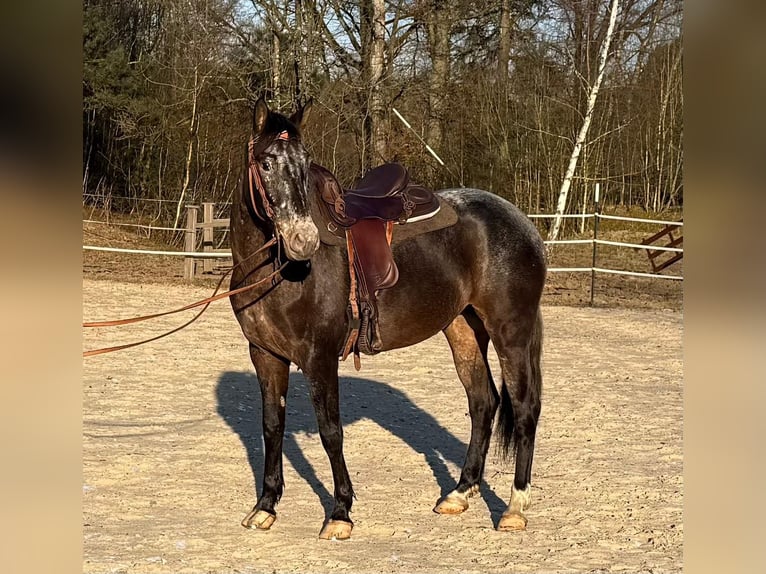
[[[527,392],[536,393],[538,397],[542,394],[543,390],[543,373],[540,368],[542,350],[543,317],[538,308],[537,317],[535,318],[535,323],[530,334],[527,368],[524,369],[528,375]],[[511,455],[511,452],[513,452],[513,454],[516,453],[516,433],[514,432],[514,429],[516,426],[516,415],[521,414],[514,413],[513,411],[513,403],[511,402],[511,396],[508,392],[508,383],[509,381],[506,380],[506,373],[503,373],[503,384],[500,387],[500,413],[498,414],[496,434],[500,439],[498,449],[505,458],[508,458]],[[535,420],[540,416],[539,412],[529,414],[534,416]]]

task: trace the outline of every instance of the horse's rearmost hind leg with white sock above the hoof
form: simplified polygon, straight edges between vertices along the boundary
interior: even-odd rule
[[[523,530],[527,525],[524,510],[530,503],[532,456],[535,450],[537,421],[540,418],[542,373],[542,317],[485,323],[503,371],[500,416],[497,433],[506,456],[511,447],[516,454],[511,500],[500,518],[498,530]]]

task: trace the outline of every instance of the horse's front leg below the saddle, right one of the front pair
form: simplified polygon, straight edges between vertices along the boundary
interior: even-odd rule
[[[329,355],[304,370],[311,385],[311,400],[314,403],[319,436],[322,438],[327,456],[330,458],[333,482],[335,484],[335,506],[325,522],[319,538],[344,540],[351,536],[354,524],[349,517],[354,490],[343,457],[343,427],[340,422],[340,400],[338,392],[338,359]]]

